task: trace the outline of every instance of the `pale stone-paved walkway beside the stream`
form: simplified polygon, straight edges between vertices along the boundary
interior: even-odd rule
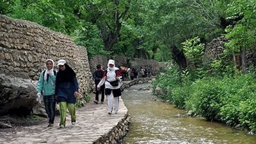
[[[76,126],[71,126],[67,116],[66,127],[60,129],[60,117],[56,117],[54,127],[39,126],[22,127],[13,132],[0,132],[0,143],[93,143],[109,132],[127,113],[122,99],[119,111],[109,115],[104,104],[86,104],[76,112]]]

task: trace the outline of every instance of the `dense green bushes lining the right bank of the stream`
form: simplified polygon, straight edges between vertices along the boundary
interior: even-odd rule
[[[206,76],[191,78],[191,71],[175,69],[170,65],[164,74],[157,76],[154,92],[162,89],[161,98],[185,108],[190,113],[207,120],[219,121],[229,126],[240,126],[256,133],[256,80],[252,73],[246,75]]]

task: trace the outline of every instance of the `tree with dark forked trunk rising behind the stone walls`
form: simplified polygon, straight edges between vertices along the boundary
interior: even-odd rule
[[[92,15],[92,22],[99,27],[106,51],[112,51],[118,41],[122,23],[127,20],[131,0],[91,1],[86,12]]]

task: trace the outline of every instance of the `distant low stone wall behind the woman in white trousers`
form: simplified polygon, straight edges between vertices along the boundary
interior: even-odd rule
[[[108,57],[104,55],[97,55],[90,59],[90,69],[94,71],[97,64],[102,64],[105,68],[108,68]],[[160,68],[163,68],[165,65],[162,62],[157,62],[152,59],[129,59],[128,57],[123,56],[113,56],[112,59],[115,60],[115,65],[119,66],[131,66],[132,68],[151,68],[152,74],[155,75]]]

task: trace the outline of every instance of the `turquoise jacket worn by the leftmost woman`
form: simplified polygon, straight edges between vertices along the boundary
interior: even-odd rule
[[[37,83],[36,92],[42,92],[43,96],[51,96],[55,94],[56,76],[48,76],[48,80],[44,80],[44,71],[42,71]]]

